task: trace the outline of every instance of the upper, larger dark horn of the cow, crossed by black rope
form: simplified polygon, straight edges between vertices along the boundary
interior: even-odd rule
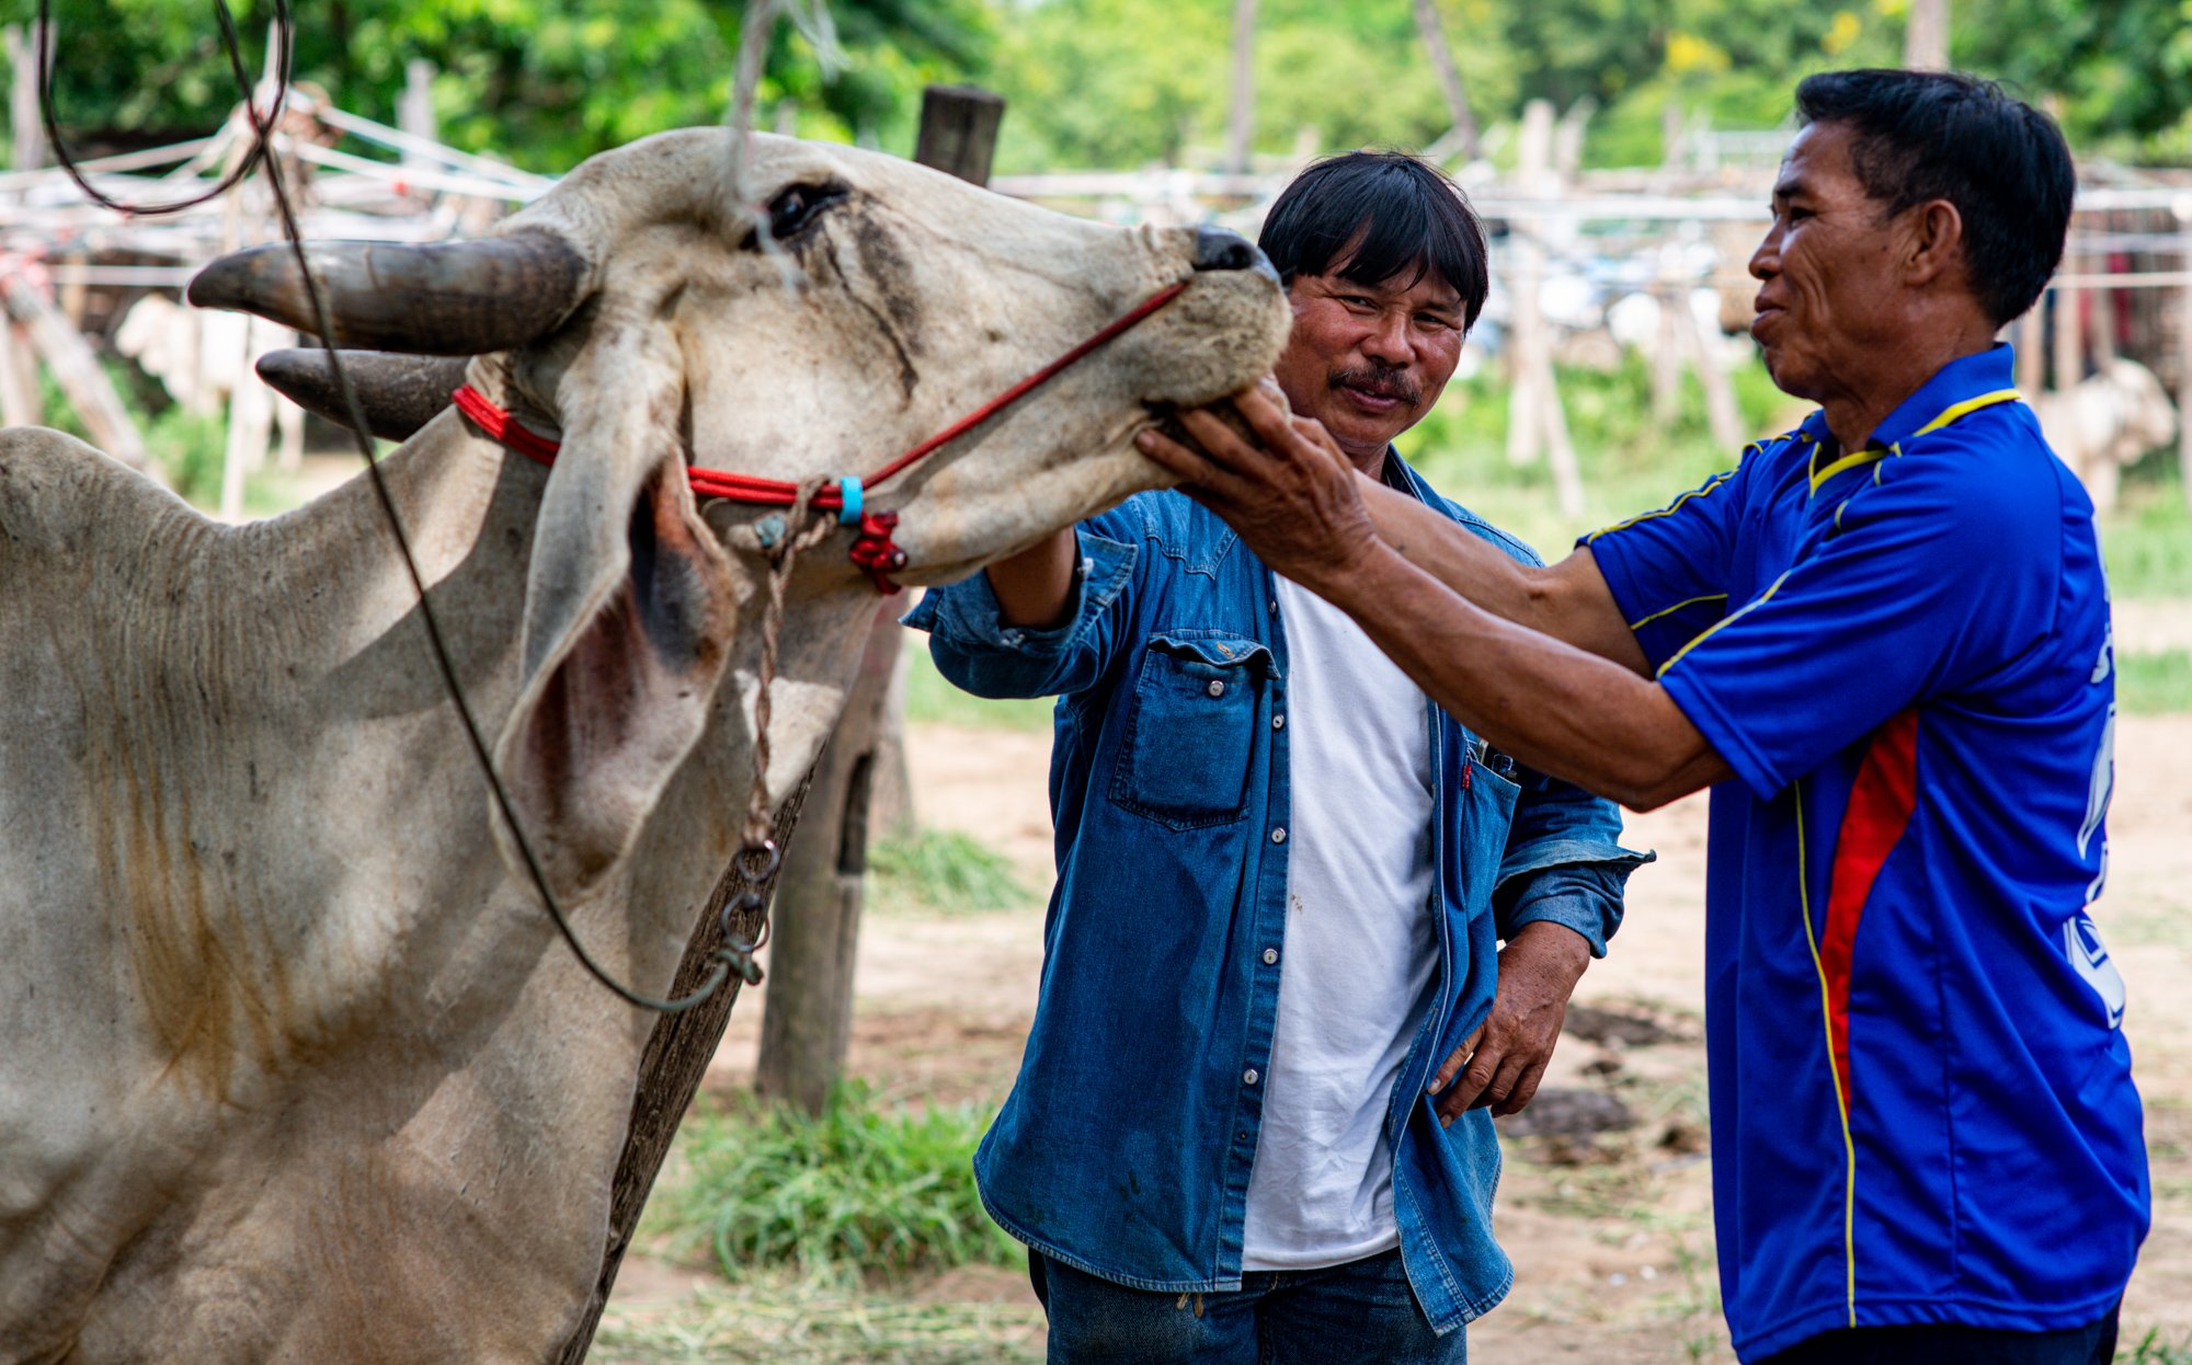
[[[480,355],[544,335],[585,296],[587,263],[539,228],[480,241],[305,243],[338,346]],[[318,333],[287,243],[221,256],[191,280],[202,309],[259,313]]]

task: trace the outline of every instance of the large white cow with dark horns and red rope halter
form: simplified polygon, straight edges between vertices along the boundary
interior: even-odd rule
[[[872,471],[1186,280],[877,493],[905,578],[947,581],[1155,482],[1149,405],[1243,388],[1287,326],[1238,239],[754,138],[787,285],[723,138],[605,153],[482,243],[318,252],[338,335],[478,353],[561,432],[550,471],[449,410],[386,473],[550,881],[651,993],[752,752],[761,508],[697,508],[686,462]],[[302,320],[278,250],[195,296]],[[789,587],[776,793],[875,611],[846,537]],[[230,528],[0,434],[0,1361],[537,1363],[572,1330],[653,1019],[500,848],[366,480]]]

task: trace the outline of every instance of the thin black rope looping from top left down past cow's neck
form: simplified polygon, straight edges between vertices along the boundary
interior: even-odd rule
[[[555,920],[555,927],[561,931],[563,942],[570,944],[572,953],[579,957],[581,964],[585,964],[585,971],[590,971],[596,982],[607,986],[627,1003],[633,1003],[642,1010],[655,1010],[660,1014],[682,1014],[704,1003],[723,986],[723,982],[730,979],[732,973],[741,975],[743,979],[754,979],[756,973],[752,968],[752,949],[739,944],[737,936],[730,936],[732,911],[750,911],[761,903],[761,896],[754,890],[745,890],[723,907],[723,929],[726,936],[732,938],[732,942],[715,951],[717,962],[715,968],[708,973],[708,979],[704,979],[699,988],[693,990],[690,995],[677,999],[655,999],[651,995],[642,995],[620,984],[598,962],[594,962],[594,955],[585,951],[583,942],[579,942],[579,933],[572,929],[570,916],[563,914],[563,905],[557,901],[557,894],[548,887],[548,874],[541,870],[539,857],[533,852],[533,841],[526,839],[526,830],[517,822],[517,811],[511,804],[509,791],[502,787],[502,776],[495,773],[495,762],[487,749],[487,738],[480,734],[480,723],[473,716],[471,701],[465,699],[465,688],[456,677],[456,662],[449,657],[449,644],[443,638],[441,620],[434,616],[434,605],[427,598],[425,574],[419,572],[419,559],[412,554],[410,535],[406,535],[403,530],[403,519],[397,515],[395,495],[388,491],[388,480],[381,473],[379,456],[373,449],[370,427],[366,425],[366,410],[357,399],[357,390],[351,386],[349,372],[342,368],[342,351],[335,348],[333,318],[327,311],[327,298],[320,294],[320,280],[311,274],[311,263],[305,259],[305,239],[296,223],[296,210],[289,204],[289,191],[283,184],[281,158],[274,156],[272,147],[274,121],[281,116],[281,107],[289,90],[289,61],[294,55],[292,39],[296,33],[289,20],[287,0],[274,0],[274,31],[278,35],[276,42],[281,44],[281,55],[276,66],[276,70],[281,72],[281,94],[274,96],[274,107],[265,116],[259,114],[259,105],[252,101],[252,79],[250,72],[243,68],[243,55],[237,44],[237,24],[235,15],[228,13],[228,0],[213,0],[215,20],[221,26],[221,46],[226,46],[228,50],[228,66],[237,77],[237,88],[243,92],[243,112],[252,125],[252,149],[246,156],[246,160],[235,171],[224,175],[215,188],[202,195],[193,195],[189,199],[178,199],[173,204],[118,204],[101,195],[96,188],[92,188],[92,184],[83,177],[83,171],[68,156],[68,149],[61,145],[59,125],[53,114],[53,81],[46,72],[46,48],[53,42],[50,33],[53,20],[48,15],[50,2],[53,0],[39,0],[37,4],[39,112],[44,114],[46,121],[46,136],[53,140],[55,160],[59,160],[61,169],[68,171],[68,177],[75,180],[77,188],[90,195],[92,202],[138,217],[173,215],[206,204],[208,199],[230,191],[239,180],[243,180],[243,175],[252,171],[252,167],[261,164],[265,167],[267,188],[274,191],[274,208],[281,215],[283,237],[287,239],[289,252],[296,259],[298,274],[305,280],[305,298],[311,305],[311,318],[320,333],[320,351],[327,355],[329,370],[335,377],[335,388],[342,394],[342,408],[351,416],[351,434],[357,438],[357,454],[364,456],[366,460],[366,473],[370,475],[373,493],[381,504],[381,515],[388,519],[388,532],[397,541],[397,552],[403,559],[403,572],[410,574],[412,592],[419,596],[419,620],[425,624],[427,642],[434,646],[434,666],[441,670],[443,688],[449,692],[449,703],[456,708],[458,721],[465,727],[465,741],[469,741],[471,745],[471,756],[478,760],[480,773],[487,776],[487,789],[495,800],[495,808],[502,813],[502,819],[509,822],[511,826],[511,841],[517,846],[517,857],[526,868],[526,876],[533,881],[533,890],[539,892],[541,905],[548,907],[548,918]],[[747,854],[761,854],[761,857],[754,859],[752,865],[747,865],[745,863]],[[761,885],[772,872],[776,872],[774,846],[763,850],[745,850],[739,857],[741,861],[737,863],[737,868],[745,876],[750,887]]]

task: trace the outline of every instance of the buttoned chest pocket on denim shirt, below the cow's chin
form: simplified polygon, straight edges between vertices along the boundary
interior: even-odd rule
[[[1271,649],[1247,635],[1153,633],[1142,649],[1111,800],[1175,830],[1241,819],[1271,670]]]

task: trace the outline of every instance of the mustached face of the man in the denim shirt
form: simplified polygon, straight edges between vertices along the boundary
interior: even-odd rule
[[[1293,333],[1274,375],[1287,405],[1313,416],[1359,467],[1423,421],[1462,359],[1462,296],[1436,272],[1381,285],[1326,274],[1295,276]]]

